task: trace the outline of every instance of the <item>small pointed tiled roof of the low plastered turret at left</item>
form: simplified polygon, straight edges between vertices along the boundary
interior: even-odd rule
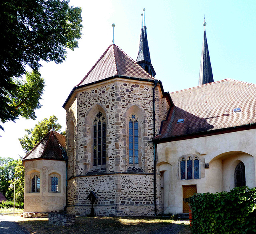
[[[46,136],[23,158],[28,159],[64,159],[65,137],[55,131],[50,131]]]

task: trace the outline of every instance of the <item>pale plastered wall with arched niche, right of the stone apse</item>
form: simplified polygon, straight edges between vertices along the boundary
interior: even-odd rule
[[[160,171],[164,171],[164,213],[180,213],[182,186],[196,185],[197,192],[221,192],[234,188],[234,170],[242,161],[246,171],[246,185],[256,186],[255,156],[256,130],[237,131],[208,137],[160,143],[157,146]],[[200,179],[180,180],[179,160],[195,155],[200,159]],[[209,168],[205,169],[205,164]],[[169,169],[163,169],[163,165]]]

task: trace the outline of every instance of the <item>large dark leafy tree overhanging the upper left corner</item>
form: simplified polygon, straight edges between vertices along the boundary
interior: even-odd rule
[[[38,74],[40,60],[61,63],[66,58],[66,48],[78,47],[81,8],[68,4],[68,0],[0,1],[0,122],[15,121],[20,115],[35,117],[33,106],[28,113],[25,111],[33,101],[27,98],[26,104],[22,103],[20,84],[26,66]]]

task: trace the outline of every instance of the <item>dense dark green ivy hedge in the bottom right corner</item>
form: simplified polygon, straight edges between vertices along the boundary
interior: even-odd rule
[[[256,188],[199,193],[188,201],[192,208],[192,234],[256,233]]]

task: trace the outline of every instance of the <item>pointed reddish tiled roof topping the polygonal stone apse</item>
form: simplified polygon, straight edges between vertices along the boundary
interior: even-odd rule
[[[118,46],[112,44],[76,86],[100,81],[114,75],[154,79]]]

